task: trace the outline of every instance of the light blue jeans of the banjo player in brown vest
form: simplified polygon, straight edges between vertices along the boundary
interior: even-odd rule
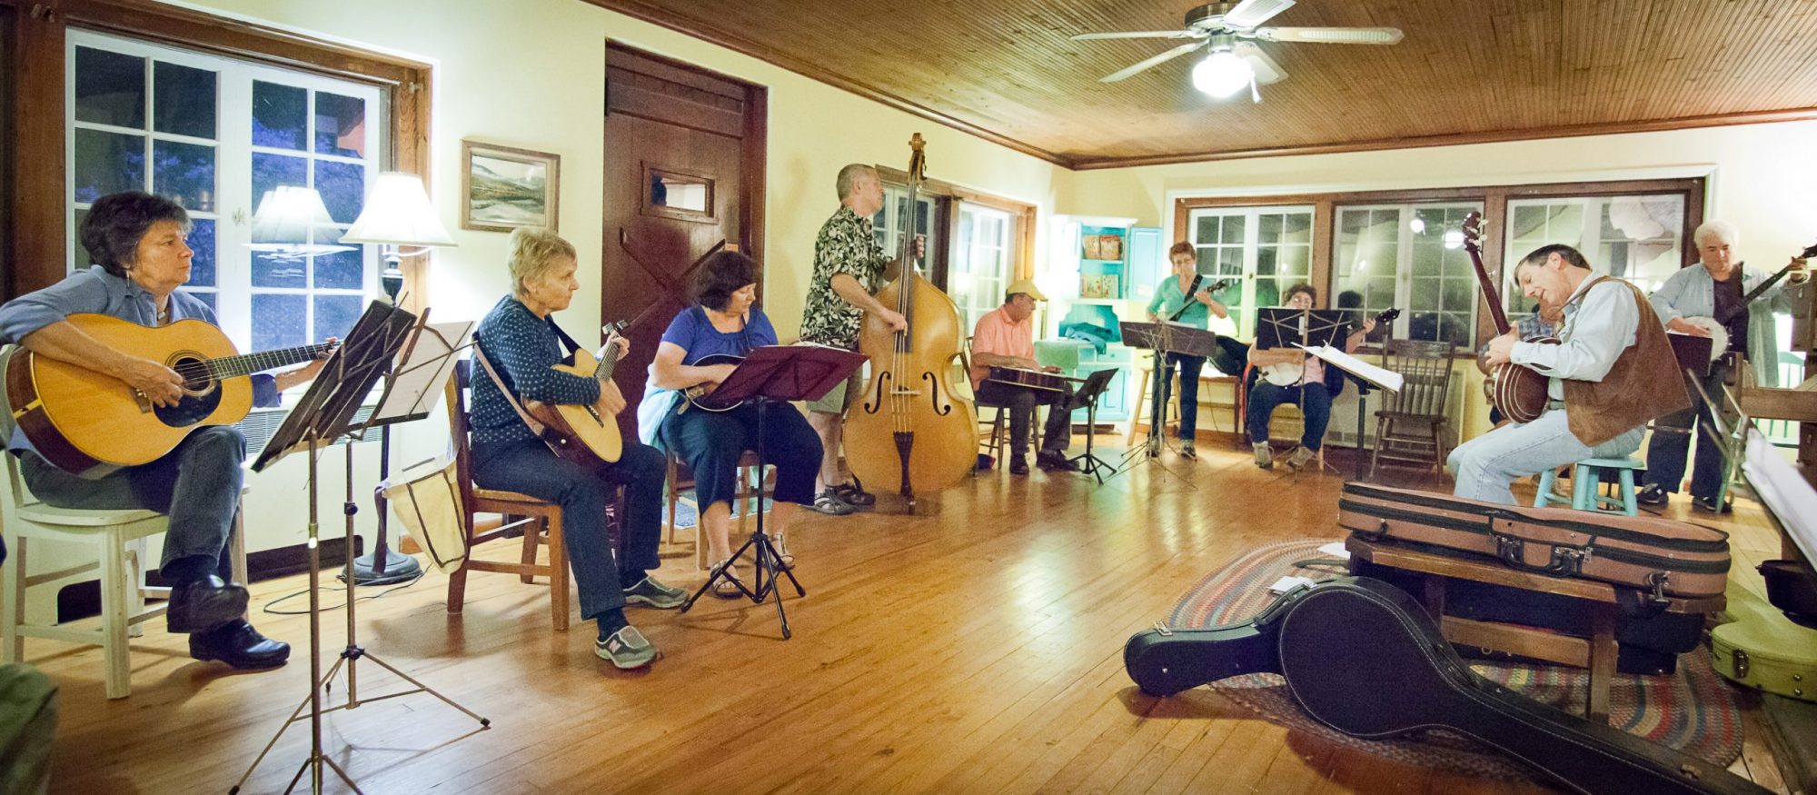
[[[1526,425],[1503,425],[1488,434],[1457,445],[1445,466],[1457,485],[1452,494],[1486,503],[1519,505],[1508,485],[1554,470],[1586,457],[1624,457],[1641,448],[1646,427],[1641,425],[1597,447],[1588,447],[1572,436],[1566,408],[1554,408]]]

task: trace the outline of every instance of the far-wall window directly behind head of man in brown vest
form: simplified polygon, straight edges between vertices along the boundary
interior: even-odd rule
[[[1633,281],[1652,292],[1684,263],[1684,196],[1555,196],[1508,200],[1508,249],[1503,274],[1541,245],[1564,243],[1599,274]],[[1512,285],[1503,290],[1508,318],[1532,314],[1532,299]]]

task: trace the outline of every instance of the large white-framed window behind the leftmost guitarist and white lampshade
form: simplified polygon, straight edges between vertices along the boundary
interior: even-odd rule
[[[147,191],[189,211],[182,289],[209,301],[242,350],[343,336],[376,287],[376,252],[253,252],[251,216],[278,185],[322,194],[307,243],[340,241],[383,151],[383,94],[369,85],[71,31],[67,40],[69,265],[89,205]]]

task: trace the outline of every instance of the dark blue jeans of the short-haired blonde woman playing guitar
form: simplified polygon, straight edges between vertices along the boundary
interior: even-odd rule
[[[476,486],[529,494],[561,506],[561,543],[583,619],[623,608],[625,588],[661,566],[656,543],[661,541],[663,468],[663,454],[634,439],[625,439],[618,463],[600,468],[560,459],[541,439],[472,450]],[[625,486],[623,559],[614,559],[605,532],[605,503],[614,485]]]

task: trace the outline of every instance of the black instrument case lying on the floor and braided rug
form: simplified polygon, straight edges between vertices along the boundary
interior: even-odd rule
[[[1366,577],[1296,588],[1245,624],[1139,632],[1123,646],[1123,666],[1148,695],[1281,673],[1312,717],[1343,733],[1452,730],[1586,795],[1768,791],[1479,677],[1419,603]]]

